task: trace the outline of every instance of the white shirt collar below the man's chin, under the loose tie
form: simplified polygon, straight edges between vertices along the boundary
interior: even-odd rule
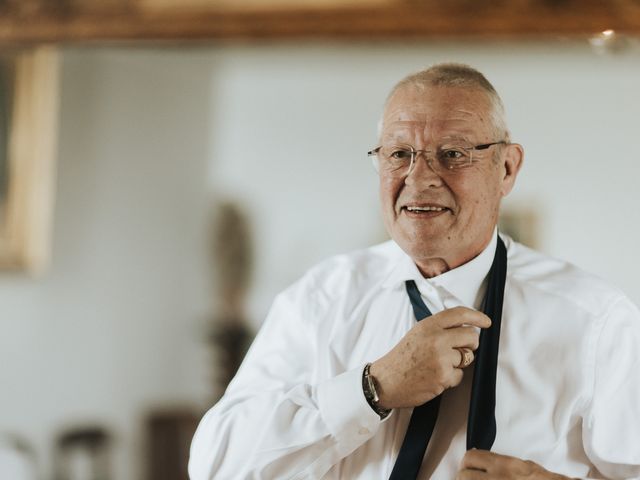
[[[404,285],[407,280],[414,280],[420,288],[421,285],[430,284],[437,288],[443,288],[460,300],[462,305],[478,307],[483,282],[491,269],[498,242],[497,229],[494,230],[489,244],[472,260],[457,268],[433,278],[424,278],[414,261],[404,253],[400,247],[400,258],[389,276],[383,283],[384,287],[393,288]]]

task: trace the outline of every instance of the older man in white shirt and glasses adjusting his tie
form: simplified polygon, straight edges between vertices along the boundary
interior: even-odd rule
[[[393,240],[277,297],[191,478],[640,478],[640,312],[497,234],[523,149],[491,84],[405,78],[370,154]]]

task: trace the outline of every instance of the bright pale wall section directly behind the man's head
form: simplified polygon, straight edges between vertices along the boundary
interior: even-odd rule
[[[249,205],[260,239],[254,318],[301,267],[384,234],[365,152],[389,88],[438,61],[501,93],[526,163],[508,203],[536,208],[541,248],[622,287],[635,280],[640,52],[584,43],[237,47],[215,53],[211,184]]]

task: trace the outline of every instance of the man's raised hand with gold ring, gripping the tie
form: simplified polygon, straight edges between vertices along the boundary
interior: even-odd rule
[[[462,381],[457,348],[478,348],[488,328],[484,313],[465,307],[444,310],[418,322],[384,357],[371,364],[383,408],[416,407]]]

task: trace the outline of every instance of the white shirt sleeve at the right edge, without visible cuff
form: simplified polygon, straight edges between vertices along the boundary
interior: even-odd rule
[[[640,479],[640,312],[626,298],[609,309],[594,352],[585,452],[595,478]]]

